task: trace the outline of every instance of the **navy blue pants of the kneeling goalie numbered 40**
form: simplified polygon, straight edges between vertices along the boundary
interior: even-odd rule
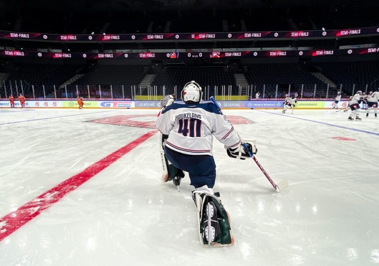
[[[213,188],[216,180],[216,164],[210,155],[188,155],[164,147],[164,155],[175,167],[189,173],[195,188],[207,185]]]

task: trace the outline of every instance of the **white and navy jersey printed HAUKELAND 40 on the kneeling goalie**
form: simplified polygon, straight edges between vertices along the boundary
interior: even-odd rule
[[[229,148],[241,140],[212,102],[172,103],[158,113],[157,129],[168,135],[168,148],[189,155],[212,155],[213,135]]]

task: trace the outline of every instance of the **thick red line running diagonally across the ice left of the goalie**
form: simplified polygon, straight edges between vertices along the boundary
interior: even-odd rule
[[[119,160],[122,156],[126,155],[155,133],[157,133],[157,130],[152,130],[143,134],[139,138],[126,144],[124,147],[107,155],[92,166],[87,167],[82,172],[71,176],[61,184],[32,199],[19,207],[17,210],[0,218],[0,241],[31,221],[41,212],[48,209],[51,205],[58,202],[66,194],[77,189],[79,186],[94,177],[97,173]]]

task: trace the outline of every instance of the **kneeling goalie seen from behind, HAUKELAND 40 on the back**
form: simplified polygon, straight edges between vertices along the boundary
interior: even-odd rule
[[[172,103],[163,108],[156,121],[157,129],[168,135],[164,155],[175,167],[189,173],[190,184],[198,213],[199,236],[202,245],[232,245],[229,215],[221,203],[220,194],[213,191],[216,165],[212,154],[213,136],[225,145],[230,157],[250,158],[233,126],[223,117],[213,102],[200,103],[201,87],[187,83],[181,93],[184,104]],[[251,152],[255,145],[247,143]]]

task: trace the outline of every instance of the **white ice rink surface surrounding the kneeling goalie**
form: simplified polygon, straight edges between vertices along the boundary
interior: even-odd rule
[[[3,238],[0,265],[379,264],[379,118],[281,111],[224,110],[252,122],[235,129],[256,139],[274,181],[289,182],[275,192],[253,160],[227,157],[214,140],[233,246],[200,246],[188,175],[180,193],[160,182],[155,133]],[[157,113],[0,109],[0,235],[1,217],[153,130],[123,119],[151,126]]]

